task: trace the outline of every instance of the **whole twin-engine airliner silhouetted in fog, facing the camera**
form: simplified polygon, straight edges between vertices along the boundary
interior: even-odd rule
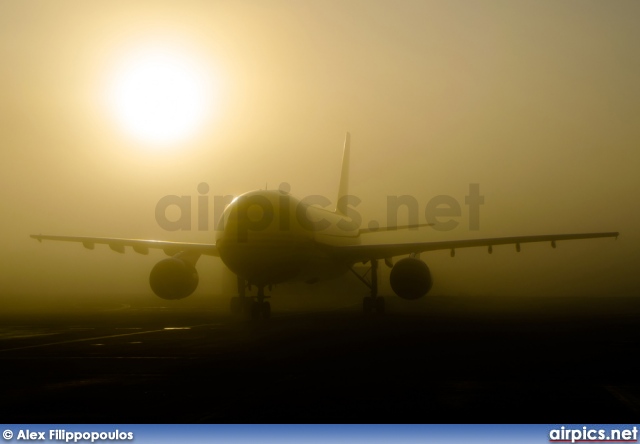
[[[359,228],[353,217],[348,194],[350,134],[344,143],[338,199],[333,211],[300,200],[289,190],[250,191],[236,197],[224,210],[215,243],[189,243],[146,239],[122,239],[84,236],[31,235],[33,239],[80,242],[85,248],[107,244],[119,253],[125,247],[148,254],[149,249],[161,249],[171,256],[158,262],[149,275],[153,292],[163,299],[183,299],[198,286],[196,263],[200,256],[218,256],[237,276],[238,295],[231,298],[234,314],[244,313],[251,318],[269,318],[271,305],[266,300],[265,288],[298,280],[313,283],[351,271],[369,288],[363,298],[365,313],[383,313],[384,297],[378,295],[378,262],[391,268],[389,281],[393,291],[401,298],[415,300],[424,297],[433,285],[427,264],[420,253],[435,250],[520,245],[531,242],[556,242],[574,239],[617,238],[618,232],[547,234],[535,236],[494,237],[435,242],[364,244],[361,235],[377,231],[416,229],[429,224],[395,227]],[[317,202],[316,202],[317,203]],[[392,259],[405,256],[395,264]],[[366,273],[355,271],[356,264],[369,264]],[[369,274],[369,278],[366,275]],[[257,288],[250,296],[247,290]]]

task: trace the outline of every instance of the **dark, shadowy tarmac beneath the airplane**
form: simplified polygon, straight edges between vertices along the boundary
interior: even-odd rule
[[[5,423],[637,423],[632,298],[7,314]]]

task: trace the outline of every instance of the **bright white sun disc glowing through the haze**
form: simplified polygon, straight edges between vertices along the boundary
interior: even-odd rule
[[[175,49],[144,48],[119,64],[108,100],[129,134],[158,146],[196,133],[210,111],[212,93],[204,63]]]

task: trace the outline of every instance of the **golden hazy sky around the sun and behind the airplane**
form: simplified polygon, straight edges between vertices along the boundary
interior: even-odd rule
[[[460,225],[414,238],[621,232],[424,254],[435,293],[636,295],[639,20],[636,0],[0,0],[0,294],[151,293],[160,252],[28,235],[211,242],[162,230],[158,200],[195,202],[201,182],[211,199],[281,182],[333,199],[348,130],[365,221],[384,223],[388,195],[447,194]],[[201,125],[162,146],[109,104],[145,48],[185,55],[207,88]],[[201,259],[198,294],[220,292],[219,263]]]

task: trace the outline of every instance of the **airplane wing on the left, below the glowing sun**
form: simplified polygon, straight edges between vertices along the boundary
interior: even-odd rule
[[[50,236],[44,234],[32,234],[33,239],[80,242],[85,248],[93,250],[96,244],[107,244],[109,248],[118,253],[124,253],[125,247],[132,247],[133,251],[140,254],[148,254],[150,248],[163,250],[167,255],[173,256],[181,251],[189,251],[209,256],[218,256],[215,244],[199,244],[191,242],[170,242],[148,239],[120,239],[110,237],[83,237],[83,236]]]

